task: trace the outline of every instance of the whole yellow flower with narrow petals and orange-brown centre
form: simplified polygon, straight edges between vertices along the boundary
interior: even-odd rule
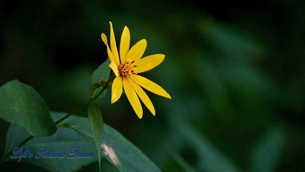
[[[150,92],[167,98],[170,98],[170,95],[156,83],[137,74],[148,71],[159,65],[163,61],[165,55],[154,54],[141,58],[147,45],[145,39],[140,40],[129,50],[130,33],[127,26],[125,26],[120,42],[119,58],[112,23],[109,23],[111,50],[108,46],[106,35],[102,33],[101,37],[107,46],[108,57],[111,61],[109,67],[113,70],[113,73],[116,76],[112,83],[111,103],[116,102],[121,97],[124,87],[127,99],[140,119],[143,116],[143,110],[138,96],[145,106],[151,111],[151,113],[155,115],[155,108],[142,87]]]

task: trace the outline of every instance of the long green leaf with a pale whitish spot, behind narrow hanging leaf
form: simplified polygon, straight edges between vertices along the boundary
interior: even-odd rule
[[[95,143],[87,118],[73,117],[67,120],[65,125],[73,128],[91,143]],[[117,130],[105,123],[101,140],[101,153],[120,171],[160,171],[141,150],[122,136]]]

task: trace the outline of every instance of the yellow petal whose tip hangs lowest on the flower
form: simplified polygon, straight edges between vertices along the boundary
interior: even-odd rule
[[[138,117],[141,119],[143,116],[143,110],[140,103],[140,100],[135,93],[135,90],[131,87],[128,80],[126,78],[123,78],[123,87],[124,91],[126,93],[127,99],[129,100],[132,108],[135,110],[135,113],[138,115]]]

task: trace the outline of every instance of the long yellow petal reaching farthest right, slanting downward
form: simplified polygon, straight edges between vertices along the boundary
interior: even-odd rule
[[[163,97],[167,97],[167,98],[171,99],[170,95],[162,87],[160,87],[158,84],[152,82],[151,80],[141,77],[139,75],[135,75],[135,74],[131,75],[130,78],[133,81],[135,81],[135,83],[141,85],[146,90],[153,92],[157,95],[161,95]]]

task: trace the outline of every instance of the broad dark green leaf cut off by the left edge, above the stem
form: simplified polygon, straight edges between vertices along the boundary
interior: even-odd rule
[[[57,129],[42,97],[18,80],[0,87],[0,118],[23,127],[34,137],[51,136]]]

